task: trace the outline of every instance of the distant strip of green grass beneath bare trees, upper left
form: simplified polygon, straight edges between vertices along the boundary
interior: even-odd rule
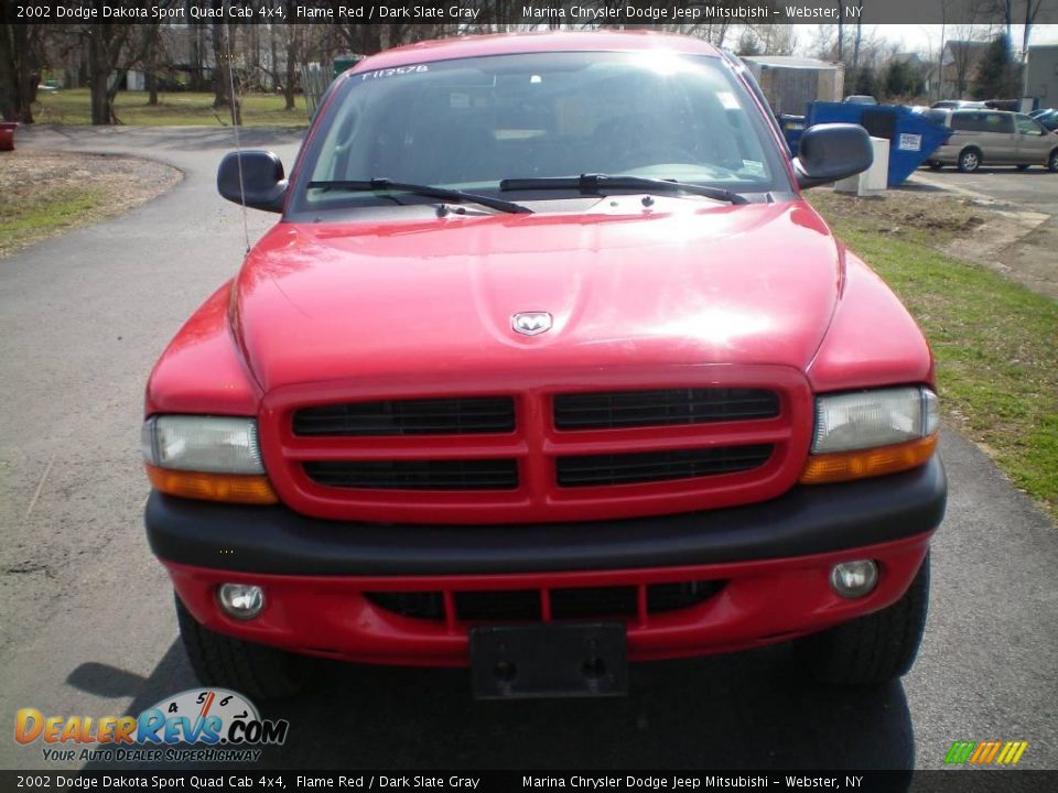
[[[40,91],[33,107],[39,123],[91,123],[91,99],[87,88]],[[214,110],[213,94],[181,91],[159,94],[159,104],[150,107],[145,91],[121,91],[115,100],[118,118],[131,126],[184,127],[230,124],[231,116],[225,108]],[[284,110],[281,96],[248,94],[242,98],[242,123],[247,127],[306,127],[305,99],[295,97],[293,110]]]

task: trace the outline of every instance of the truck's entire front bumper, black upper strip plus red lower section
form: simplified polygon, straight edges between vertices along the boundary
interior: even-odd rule
[[[393,664],[465,665],[464,593],[551,594],[629,587],[628,655],[651,660],[758,647],[895,602],[944,511],[938,458],[861,482],[796,488],[773,501],[655,519],[515,526],[384,525],[306,519],[282,507],[153,493],[151,547],[195,619],[220,633],[296,652]],[[830,588],[831,567],[878,563],[867,597]],[[267,606],[240,622],[216,602],[223,583],[262,586]],[[652,612],[651,585],[721,582],[711,597]],[[365,593],[435,593],[436,619],[402,616]],[[605,617],[606,615],[601,615]]]

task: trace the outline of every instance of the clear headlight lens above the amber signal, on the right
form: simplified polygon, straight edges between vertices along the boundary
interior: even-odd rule
[[[889,446],[937,432],[937,394],[898,388],[819,397],[812,454]]]

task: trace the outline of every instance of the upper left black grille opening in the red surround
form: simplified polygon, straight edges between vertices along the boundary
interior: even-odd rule
[[[385,400],[303,408],[295,435],[471,435],[515,428],[510,397]]]

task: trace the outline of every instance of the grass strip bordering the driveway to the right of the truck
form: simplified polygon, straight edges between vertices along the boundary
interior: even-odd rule
[[[807,196],[918,319],[949,422],[1058,519],[1058,303],[940,250],[983,222],[957,199]]]

